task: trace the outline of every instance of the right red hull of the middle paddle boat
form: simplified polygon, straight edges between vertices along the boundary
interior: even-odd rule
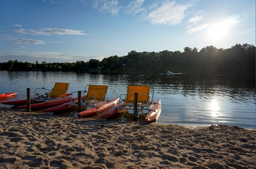
[[[105,110],[112,108],[114,105],[116,105],[119,100],[120,98],[117,97],[116,99],[113,99],[111,101],[105,101],[103,103],[100,103],[99,105],[97,105],[97,107],[93,107],[91,109],[84,110],[83,112],[78,113],[78,117],[87,117],[104,112]]]

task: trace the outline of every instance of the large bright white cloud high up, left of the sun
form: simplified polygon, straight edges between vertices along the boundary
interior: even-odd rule
[[[163,2],[160,7],[148,14],[148,19],[151,21],[152,24],[180,24],[186,16],[185,11],[189,7],[191,7],[190,4],[175,5],[175,1]]]

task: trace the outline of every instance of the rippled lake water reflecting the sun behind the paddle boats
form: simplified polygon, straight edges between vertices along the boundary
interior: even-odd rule
[[[83,91],[87,84],[108,85],[108,99],[126,94],[131,84],[151,86],[154,100],[162,102],[158,123],[256,128],[254,76],[154,74],[131,78],[111,73],[0,71],[0,94],[18,92],[13,100],[25,99],[27,88],[33,96],[36,88],[51,89],[55,82],[70,83],[68,92]]]

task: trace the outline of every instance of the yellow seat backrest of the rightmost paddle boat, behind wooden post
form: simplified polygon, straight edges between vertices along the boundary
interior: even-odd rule
[[[150,86],[127,86],[127,94],[125,102],[134,102],[134,93],[138,93],[138,103],[144,103],[150,100]]]

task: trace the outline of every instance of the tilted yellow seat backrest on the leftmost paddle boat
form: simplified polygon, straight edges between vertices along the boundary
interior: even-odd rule
[[[68,89],[69,83],[56,82],[53,89],[50,91],[50,97],[65,97]]]

